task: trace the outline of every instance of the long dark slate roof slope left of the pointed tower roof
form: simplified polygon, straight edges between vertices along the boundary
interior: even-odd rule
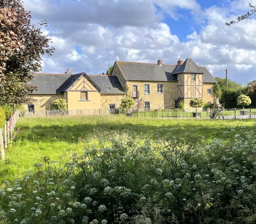
[[[134,81],[177,81],[172,75],[176,65],[162,65],[116,61],[126,80]]]

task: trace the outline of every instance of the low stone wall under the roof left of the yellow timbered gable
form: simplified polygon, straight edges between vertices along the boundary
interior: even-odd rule
[[[63,98],[63,94],[30,94],[29,97],[34,99],[31,104],[35,105],[35,110],[50,110],[50,103],[55,99]]]

